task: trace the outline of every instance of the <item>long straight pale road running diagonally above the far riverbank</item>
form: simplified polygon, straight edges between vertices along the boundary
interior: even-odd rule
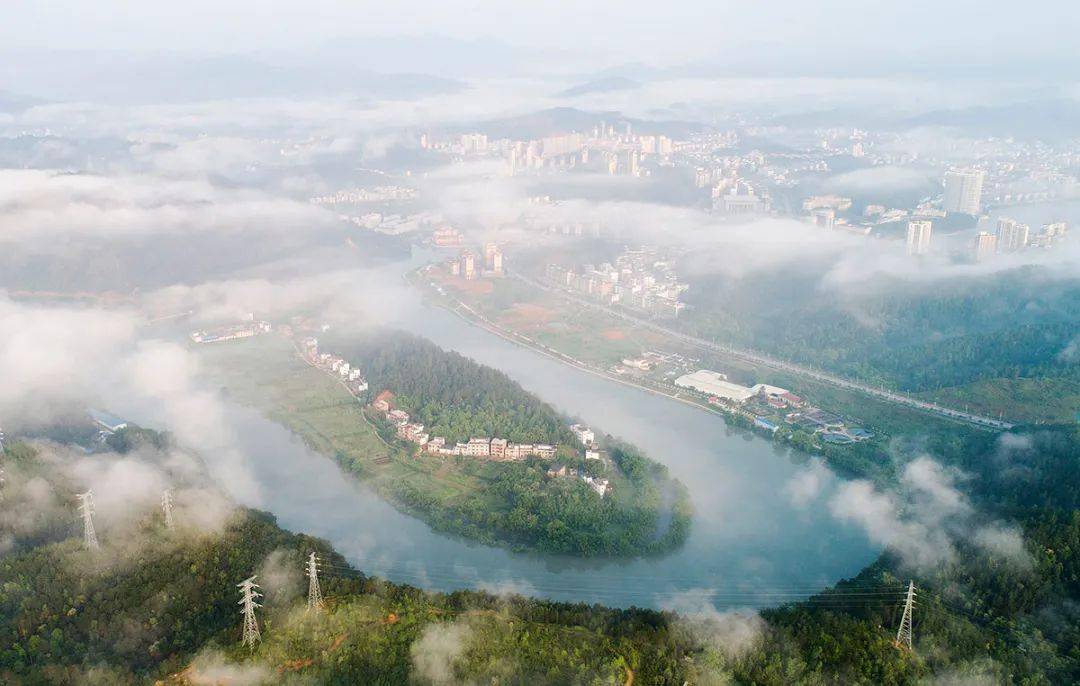
[[[807,367],[807,366],[802,366],[802,365],[799,365],[799,364],[793,364],[791,362],[784,362],[782,360],[777,360],[774,358],[770,358],[770,357],[761,354],[759,352],[753,352],[753,351],[745,350],[745,349],[740,349],[740,348],[732,348],[730,346],[723,346],[720,344],[714,342],[712,340],[707,340],[705,338],[699,338],[697,336],[691,336],[689,334],[684,334],[681,332],[677,332],[677,331],[674,331],[672,328],[667,328],[666,326],[658,324],[654,321],[643,319],[643,318],[639,318],[639,317],[635,317],[634,314],[631,314],[630,312],[626,312],[626,311],[624,311],[622,309],[612,308],[612,307],[607,307],[605,305],[600,305],[599,302],[596,302],[595,300],[590,300],[588,298],[583,298],[583,297],[581,297],[581,296],[579,296],[579,295],[577,295],[577,294],[575,294],[572,292],[566,291],[564,288],[558,288],[558,287],[552,286],[552,285],[548,285],[548,284],[541,283],[541,282],[539,282],[539,281],[537,281],[535,279],[530,279],[529,277],[526,277],[526,275],[517,273],[517,272],[513,272],[510,275],[513,277],[514,279],[517,279],[518,281],[522,281],[522,282],[530,285],[530,286],[534,286],[536,288],[540,288],[542,291],[546,291],[549,293],[554,293],[554,294],[556,294],[556,295],[558,295],[558,296],[561,296],[563,298],[566,298],[566,299],[568,299],[568,300],[570,300],[572,302],[581,305],[582,307],[588,307],[588,308],[591,308],[591,309],[594,309],[594,310],[598,310],[598,311],[605,312],[607,314],[610,314],[612,317],[617,317],[617,318],[619,318],[621,320],[624,320],[626,322],[630,322],[632,324],[636,324],[638,326],[644,326],[646,328],[650,328],[650,329],[656,331],[658,333],[664,334],[665,336],[671,336],[672,338],[676,338],[676,339],[681,340],[684,342],[688,342],[688,344],[690,344],[692,346],[697,346],[699,348],[705,348],[707,350],[714,350],[716,352],[720,352],[723,354],[726,354],[726,355],[731,357],[731,358],[735,358],[738,360],[743,360],[743,361],[746,361],[746,362],[753,362],[754,364],[758,364],[758,365],[761,365],[761,366],[770,367],[770,368],[773,368],[773,369],[780,369],[780,371],[783,371],[783,372],[788,372],[791,374],[796,374],[796,375],[799,375],[799,376],[811,378],[811,379],[814,379],[816,381],[823,381],[825,384],[829,384],[831,386],[836,386],[838,388],[842,388],[842,389],[847,389],[847,390],[851,390],[851,391],[856,391],[856,392],[860,392],[860,393],[865,393],[867,395],[873,395],[874,398],[877,398],[879,400],[883,400],[886,402],[890,402],[890,403],[893,403],[893,404],[896,404],[896,405],[902,405],[902,406],[905,406],[905,407],[910,407],[910,408],[914,408],[914,409],[919,409],[919,411],[922,411],[922,412],[930,413],[932,415],[936,415],[939,417],[943,417],[945,419],[951,419],[954,421],[960,421],[960,422],[963,422],[963,423],[970,423],[970,425],[974,425],[974,426],[977,426],[977,427],[984,427],[984,428],[987,428],[987,429],[1012,429],[1013,426],[1014,426],[1011,422],[1002,421],[1000,419],[994,419],[993,417],[984,417],[982,415],[974,415],[974,414],[967,413],[967,412],[960,412],[959,409],[953,409],[950,407],[943,407],[942,405],[937,405],[936,403],[928,403],[926,401],[921,401],[921,400],[912,398],[909,395],[904,395],[903,393],[896,393],[894,391],[887,391],[887,390],[881,389],[881,388],[875,388],[873,386],[866,386],[864,384],[859,384],[858,381],[852,381],[850,379],[846,379],[843,377],[835,376],[833,374],[828,374],[828,373],[825,373],[825,372],[820,372],[818,369],[812,369],[812,368]]]

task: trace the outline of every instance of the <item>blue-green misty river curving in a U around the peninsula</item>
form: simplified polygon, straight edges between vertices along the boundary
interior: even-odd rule
[[[378,279],[400,283],[406,267],[393,265]],[[481,588],[620,607],[684,607],[703,597],[716,607],[760,607],[808,595],[877,556],[861,530],[829,514],[837,480],[820,465],[801,482],[815,483],[816,497],[793,498],[787,485],[810,469],[807,458],[732,431],[715,415],[516,347],[397,291],[392,311],[382,313],[390,324],[505,372],[557,409],[667,465],[696,509],[686,544],[661,557],[580,560],[436,534],[283,427],[229,405],[243,463],[228,463],[218,476],[233,497],[273,512],[288,529],[327,539],[368,574],[443,591]],[[212,470],[225,469],[216,465],[225,462],[212,460]],[[240,470],[254,484],[231,486]]]

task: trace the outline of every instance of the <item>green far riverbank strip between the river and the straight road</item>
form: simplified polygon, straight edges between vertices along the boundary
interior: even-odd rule
[[[820,455],[829,467],[846,476],[867,477],[883,485],[892,483],[895,476],[894,463],[888,453],[892,436],[962,434],[980,430],[934,418],[914,408],[862,396],[832,385],[795,379],[774,369],[735,364],[729,360],[721,361],[710,357],[693,360],[689,357],[694,354],[692,348],[683,347],[678,341],[667,340],[656,332],[643,332],[624,322],[620,323],[603,315],[590,315],[586,321],[580,321],[580,317],[576,317],[575,312],[555,309],[558,304],[551,299],[528,299],[529,294],[516,285],[516,282],[500,282],[485,297],[467,297],[465,294],[453,291],[453,284],[442,283],[433,277],[427,267],[404,274],[406,283],[411,287],[471,326],[592,376],[718,416],[729,427],[757,434],[781,445],[789,445],[809,455]],[[529,320],[524,319],[522,311],[531,315]],[[502,320],[511,320],[518,325],[508,325],[502,323]],[[552,331],[545,320],[557,322],[561,327]],[[529,326],[531,326],[529,335],[519,331]],[[863,433],[868,434],[870,439],[829,443],[821,440],[821,436],[812,430],[802,430],[798,426],[784,426],[780,419],[782,415],[761,421],[756,414],[760,408],[751,412],[738,403],[710,402],[700,393],[676,387],[669,378],[674,374],[694,368],[693,366],[663,375],[662,369],[640,373],[619,364],[624,358],[637,358],[644,350],[659,349],[670,353],[670,357],[683,360],[684,365],[689,361],[700,365],[718,365],[714,368],[723,368],[729,374],[734,374],[735,378],[747,385],[766,382],[791,388],[795,382],[799,382],[801,385],[796,387],[799,389],[799,394],[813,400],[814,405],[824,406],[829,411],[828,414],[836,413],[847,418],[859,413],[855,421],[867,427]],[[567,350],[572,350],[575,353],[570,354]],[[813,409],[812,406],[804,407],[807,408]],[[777,414],[775,411],[773,414]],[[847,421],[851,423],[851,420]]]

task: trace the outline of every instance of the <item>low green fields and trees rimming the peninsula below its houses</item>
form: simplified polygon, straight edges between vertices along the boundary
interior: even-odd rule
[[[393,349],[400,342],[387,345]],[[453,360],[450,353],[426,346],[426,359]],[[679,546],[688,534],[691,515],[685,487],[661,465],[632,450],[612,450],[616,459],[605,475],[613,488],[602,498],[580,480],[549,477],[546,461],[494,462],[416,450],[380,427],[375,415],[365,415],[362,403],[335,377],[309,365],[280,336],[199,351],[208,376],[227,393],[288,427],[311,448],[334,457],[395,507],[436,530],[519,550],[583,556],[660,554]],[[363,369],[362,360],[353,361]],[[454,364],[467,365],[461,367],[465,377],[481,368],[471,361]],[[406,374],[421,368],[402,365]],[[487,374],[500,388],[512,384],[497,372]],[[509,394],[511,407],[538,403],[548,426],[564,427],[553,409],[516,385],[501,392]],[[453,426],[469,426],[467,419],[458,417]],[[671,511],[664,511],[669,507]],[[665,521],[670,525],[658,534],[658,523]]]

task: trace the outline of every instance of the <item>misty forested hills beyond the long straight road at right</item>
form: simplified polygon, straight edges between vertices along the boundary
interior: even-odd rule
[[[845,291],[825,267],[693,283],[693,333],[904,391],[995,378],[1080,382],[1080,285],[1035,268]],[[1072,346],[1072,348],[1070,348]]]

